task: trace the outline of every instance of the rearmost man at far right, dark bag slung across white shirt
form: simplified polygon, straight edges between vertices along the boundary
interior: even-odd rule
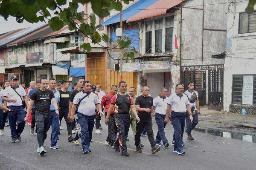
[[[189,105],[191,108],[192,116],[193,116],[193,122],[189,119],[189,113],[186,113],[186,130],[185,132],[188,135],[189,140],[194,140],[192,137],[191,131],[195,128],[195,126],[198,124],[198,114],[200,115],[200,108],[199,108],[199,100],[198,100],[198,92],[194,90],[195,83],[193,81],[188,82],[188,89],[184,94],[186,94],[189,98]],[[194,97],[195,95],[195,97]]]

